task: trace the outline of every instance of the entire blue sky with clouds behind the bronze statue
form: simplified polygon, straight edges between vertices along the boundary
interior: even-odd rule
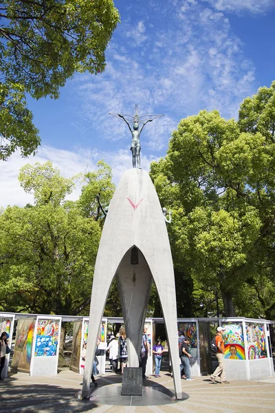
[[[275,79],[275,0],[115,0],[121,23],[103,74],[76,74],[58,100],[29,100],[42,145],[0,165],[0,206],[32,202],[17,176],[52,160],[64,176],[105,160],[118,182],[131,168],[131,134],[108,113],[164,114],[141,134],[142,168],[165,156],[179,120],[201,109],[237,117],[239,104]],[[71,198],[76,199],[80,189]]]

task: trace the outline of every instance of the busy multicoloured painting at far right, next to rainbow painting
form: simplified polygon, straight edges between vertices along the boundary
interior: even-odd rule
[[[267,348],[265,342],[265,326],[258,323],[245,323],[246,338],[248,340],[248,358],[265,359]]]

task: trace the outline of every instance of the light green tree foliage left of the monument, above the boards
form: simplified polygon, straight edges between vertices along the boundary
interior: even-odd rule
[[[109,167],[100,162],[94,179],[89,174],[83,187],[89,187],[94,204],[87,216],[78,202],[65,200],[79,178],[63,178],[51,162],[21,169],[21,185],[34,193],[35,203],[8,207],[0,215],[2,310],[78,315],[89,308],[101,235],[91,188],[104,188],[109,202],[113,184]]]

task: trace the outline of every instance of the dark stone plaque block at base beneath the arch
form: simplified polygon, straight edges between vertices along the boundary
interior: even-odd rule
[[[125,367],[122,375],[122,396],[142,396],[142,368]]]

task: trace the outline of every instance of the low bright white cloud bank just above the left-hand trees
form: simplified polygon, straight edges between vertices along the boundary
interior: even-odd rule
[[[64,151],[54,147],[41,146],[39,153],[30,158],[21,158],[20,153],[14,153],[7,162],[0,163],[0,207],[8,205],[19,205],[24,207],[25,204],[33,204],[34,198],[30,193],[25,193],[21,188],[18,180],[20,169],[27,163],[34,165],[36,162],[45,163],[47,160],[52,161],[53,166],[61,171],[61,175],[71,178],[77,173],[85,173],[96,170],[98,160],[104,160],[111,166],[113,171],[113,182],[115,184],[120,180],[122,173],[132,167],[131,151],[98,151],[79,149],[77,152]],[[153,156],[147,157],[141,152],[141,166],[145,171],[149,171],[150,164],[157,160]],[[77,200],[81,193],[82,184],[78,184],[76,189],[67,199]]]

